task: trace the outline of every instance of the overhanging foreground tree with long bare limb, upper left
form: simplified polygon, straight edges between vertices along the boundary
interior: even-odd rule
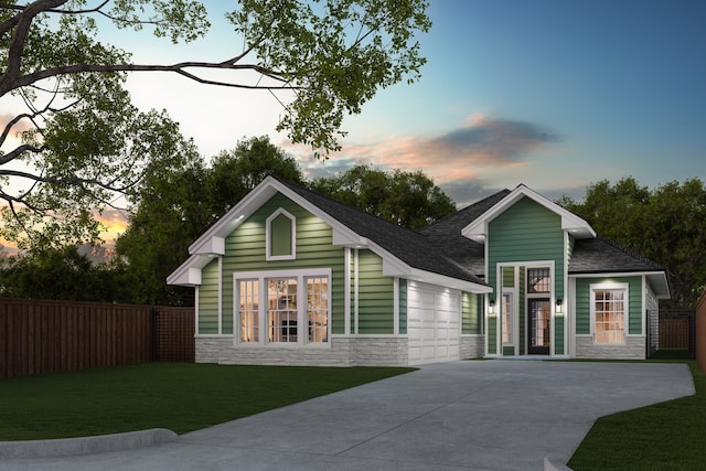
[[[0,154],[0,199],[9,205],[2,235],[28,244],[95,239],[90,211],[135,186],[164,151],[173,124],[130,104],[126,73],[159,71],[285,93],[277,129],[328,153],[340,148],[344,115],[360,113],[376,90],[419,77],[425,60],[415,34],[430,28],[426,8],[425,0],[240,0],[227,19],[242,50],[218,62],[135,64],[128,52],[99,40],[99,21],[195,41],[210,25],[205,7],[193,0],[0,2],[0,99],[14,96],[25,105],[0,117],[0,146],[24,129],[22,142]],[[214,69],[229,78],[207,78]],[[17,170],[17,162],[28,170]],[[11,191],[18,182],[21,190]]]

